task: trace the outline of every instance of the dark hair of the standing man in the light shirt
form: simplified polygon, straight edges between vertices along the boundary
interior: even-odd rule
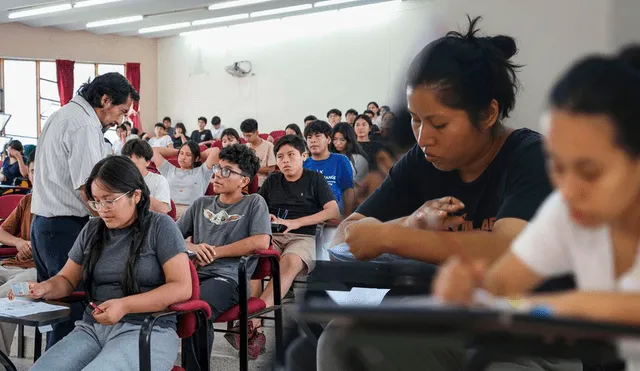
[[[84,98],[91,107],[102,107],[102,96],[107,95],[114,106],[124,104],[131,97],[134,102],[140,100],[140,95],[131,86],[129,80],[117,72],[109,72],[97,76],[91,82],[86,82],[78,89],[78,95]]]

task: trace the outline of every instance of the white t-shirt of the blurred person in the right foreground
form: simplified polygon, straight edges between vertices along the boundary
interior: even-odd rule
[[[573,273],[583,291],[640,292],[640,259],[615,277],[608,225],[586,228],[574,223],[562,195],[554,192],[516,238],[511,251],[532,271],[544,276]],[[640,341],[620,342],[627,370],[640,370]]]

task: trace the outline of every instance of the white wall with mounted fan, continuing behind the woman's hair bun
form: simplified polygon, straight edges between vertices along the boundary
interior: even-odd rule
[[[487,34],[516,38],[515,61],[525,67],[507,124],[537,128],[554,79],[576,58],[617,47],[614,39],[622,36],[614,37],[614,10],[620,13],[615,2],[413,0],[375,16],[354,13],[337,25],[325,17],[298,27],[256,26],[163,39],[158,42],[158,115],[182,120],[188,128],[200,115],[220,115],[236,128],[255,117],[266,132],[300,123],[309,113],[323,117],[333,107],[362,111],[370,100],[388,104],[410,57],[436,29],[465,27],[469,14],[484,17],[480,27]],[[245,59],[254,63],[255,76],[236,79],[224,72]]]

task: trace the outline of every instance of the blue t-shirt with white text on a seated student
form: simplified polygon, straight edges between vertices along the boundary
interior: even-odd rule
[[[329,183],[329,187],[331,187],[331,191],[333,191],[333,195],[336,197],[336,201],[338,201],[340,212],[343,212],[344,200],[342,199],[342,192],[353,188],[353,169],[347,156],[331,153],[329,158],[320,161],[309,157],[304,162],[304,168],[317,171],[324,176],[324,179]]]

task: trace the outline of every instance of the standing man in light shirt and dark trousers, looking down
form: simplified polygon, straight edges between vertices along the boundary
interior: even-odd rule
[[[38,282],[55,276],[89,220],[84,184],[104,157],[104,132],[122,123],[138,92],[119,73],[107,73],[82,85],[71,102],[51,115],[38,139],[31,212],[31,246]],[[53,326],[47,349],[82,318],[81,303],[71,306],[68,322]]]

